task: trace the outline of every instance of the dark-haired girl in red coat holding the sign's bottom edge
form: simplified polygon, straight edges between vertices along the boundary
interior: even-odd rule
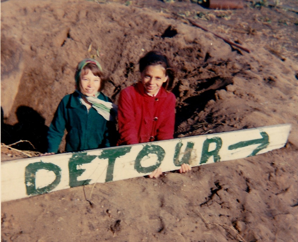
[[[141,79],[119,96],[119,145],[173,139],[176,97],[170,92],[175,71],[168,58],[150,51],[139,61]],[[182,164],[181,172],[191,170]],[[162,174],[157,168],[150,177]]]

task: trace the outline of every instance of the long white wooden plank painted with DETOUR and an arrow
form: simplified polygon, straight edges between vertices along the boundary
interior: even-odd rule
[[[285,146],[290,124],[1,162],[1,201],[262,154]]]

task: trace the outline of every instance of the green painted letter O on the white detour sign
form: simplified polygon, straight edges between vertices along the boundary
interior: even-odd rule
[[[141,160],[144,156],[148,154],[156,154],[157,163],[153,166],[143,167],[141,166]],[[160,164],[162,163],[162,160],[164,159],[164,155],[165,155],[164,149],[162,149],[162,147],[160,147],[159,145],[146,145],[136,157],[134,168],[139,173],[152,172],[160,166]]]

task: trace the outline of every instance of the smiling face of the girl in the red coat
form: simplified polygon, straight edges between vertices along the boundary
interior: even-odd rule
[[[141,73],[144,88],[150,95],[156,94],[167,79],[168,76],[165,75],[162,65],[148,65]]]

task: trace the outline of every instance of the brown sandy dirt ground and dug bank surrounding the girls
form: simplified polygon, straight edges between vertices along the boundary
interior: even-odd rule
[[[117,103],[151,49],[178,69],[175,137],[292,124],[284,148],[255,157],[4,202],[1,241],[296,241],[297,1],[243,2],[1,1],[1,143],[30,140],[44,152],[78,61],[100,61]],[[21,158],[2,151],[1,160]]]

